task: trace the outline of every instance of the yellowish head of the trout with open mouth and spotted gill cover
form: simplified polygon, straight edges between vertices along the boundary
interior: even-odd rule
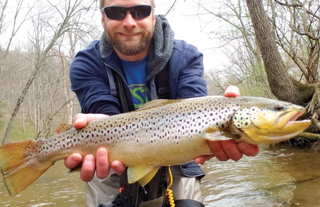
[[[297,121],[305,113],[301,106],[271,99],[248,103],[250,105],[246,108],[236,111],[233,124],[250,139],[249,143],[275,143],[290,139],[311,124],[310,120]]]

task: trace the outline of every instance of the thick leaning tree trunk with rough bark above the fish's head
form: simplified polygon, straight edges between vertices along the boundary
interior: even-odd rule
[[[295,81],[288,73],[276,46],[275,34],[261,0],[246,0],[246,3],[272,93],[279,100],[299,105],[308,103],[312,96],[306,97],[306,94],[313,94],[313,87]],[[308,92],[300,93],[302,89]]]

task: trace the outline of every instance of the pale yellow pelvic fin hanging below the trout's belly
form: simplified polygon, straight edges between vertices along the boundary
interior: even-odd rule
[[[128,182],[139,181],[140,185],[145,186],[156,174],[159,167],[154,165],[142,165],[128,168]]]

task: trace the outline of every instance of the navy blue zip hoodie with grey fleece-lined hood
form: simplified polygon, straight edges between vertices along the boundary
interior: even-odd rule
[[[207,84],[203,79],[203,55],[193,45],[173,39],[173,32],[163,15],[156,15],[156,25],[151,39],[146,85],[156,99],[155,76],[168,62],[168,79],[171,99],[200,97],[207,95]],[[76,93],[82,113],[122,113],[119,100],[114,96],[115,88],[110,71],[120,74],[125,85],[124,72],[112,45],[102,34],[100,40],[91,42],[79,51],[70,66],[71,89]],[[111,84],[110,84],[111,83]],[[135,110],[132,94],[124,87],[129,111]],[[191,177],[203,177],[204,172],[194,162],[181,165],[182,172]]]

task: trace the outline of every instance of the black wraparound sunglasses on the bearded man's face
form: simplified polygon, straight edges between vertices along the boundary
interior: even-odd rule
[[[106,6],[101,9],[109,19],[123,20],[130,11],[133,19],[143,19],[150,16],[153,6],[151,5],[135,5],[131,7],[125,6]]]

